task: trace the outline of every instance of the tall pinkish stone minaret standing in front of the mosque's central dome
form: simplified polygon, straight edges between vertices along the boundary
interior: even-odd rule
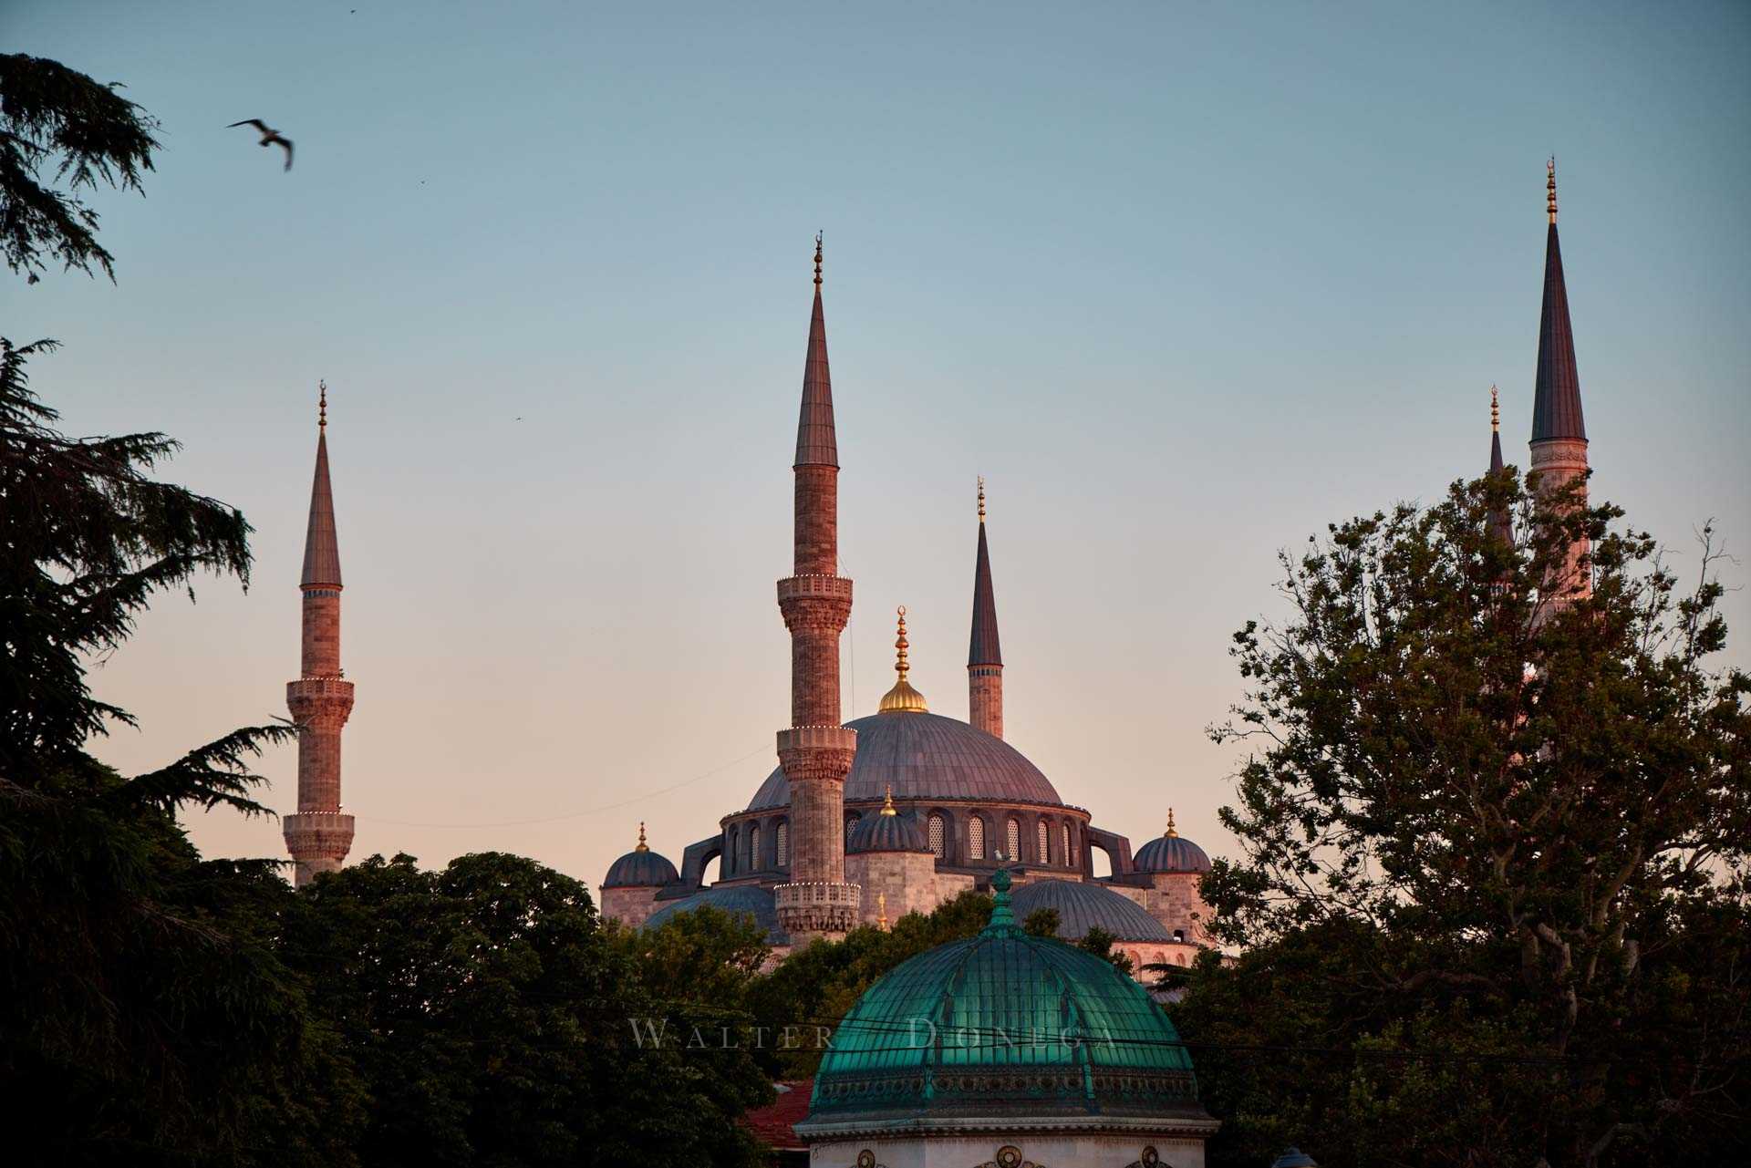
[[[779,926],[798,946],[840,937],[861,891],[846,883],[846,776],[858,735],[839,720],[839,634],[851,618],[851,581],[839,574],[839,443],[821,313],[821,236],[814,236],[814,315],[797,420],[795,566],[777,581],[790,629],[790,728],[777,760],[790,783],[790,884],[774,890]]]

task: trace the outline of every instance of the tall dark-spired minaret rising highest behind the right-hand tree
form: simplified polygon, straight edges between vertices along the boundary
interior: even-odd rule
[[[1581,480],[1586,503],[1586,424],[1581,419],[1581,375],[1574,366],[1574,333],[1569,327],[1569,291],[1562,280],[1562,247],[1557,242],[1557,159],[1544,177],[1550,229],[1544,236],[1544,312],[1537,329],[1537,378],[1532,399],[1532,475],[1544,490]],[[1592,573],[1581,569],[1585,539],[1569,548],[1565,580],[1558,594],[1592,595]]]

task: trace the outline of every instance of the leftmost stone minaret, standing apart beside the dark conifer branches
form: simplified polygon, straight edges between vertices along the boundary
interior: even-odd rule
[[[285,849],[298,862],[294,883],[340,869],[352,848],[352,816],[340,809],[340,728],[352,713],[352,681],[340,671],[340,545],[327,480],[327,385],[319,391],[317,476],[305,534],[303,667],[285,683],[298,723],[298,814],[285,816]]]

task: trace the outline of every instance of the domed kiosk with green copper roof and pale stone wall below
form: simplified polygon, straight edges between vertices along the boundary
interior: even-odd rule
[[[833,1031],[797,1133],[814,1163],[1173,1164],[1217,1129],[1168,1016],[1108,961],[991,923],[877,981]]]

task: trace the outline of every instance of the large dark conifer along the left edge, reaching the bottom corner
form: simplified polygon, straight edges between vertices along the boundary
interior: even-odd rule
[[[235,510],[154,482],[161,434],[72,440],[28,387],[51,341],[0,340],[0,1093],[9,1150],[51,1163],[217,1163],[284,1135],[294,1163],[347,1163],[348,1087],[270,947],[284,881],[203,862],[186,806],[266,814],[252,758],[285,725],[233,730],[123,777],[84,751],[126,711],[88,658],[161,588],[249,576]],[[299,1133],[299,1108],[326,1126]],[[282,1122],[284,1121],[284,1126]]]

